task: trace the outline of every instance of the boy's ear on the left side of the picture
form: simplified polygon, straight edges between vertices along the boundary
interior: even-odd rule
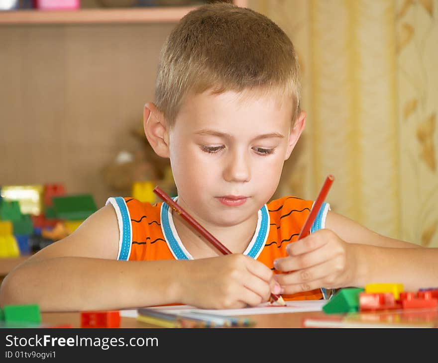
[[[149,102],[143,109],[143,127],[147,141],[155,153],[163,158],[169,157],[169,132],[163,114],[155,104]]]

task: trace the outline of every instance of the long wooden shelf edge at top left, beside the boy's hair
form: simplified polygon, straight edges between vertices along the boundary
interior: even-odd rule
[[[196,7],[0,11],[0,25],[175,22]]]

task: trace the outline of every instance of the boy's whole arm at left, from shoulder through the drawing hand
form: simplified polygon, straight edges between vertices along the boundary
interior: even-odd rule
[[[194,261],[116,261],[112,206],[29,258],[4,278],[0,305],[38,304],[41,311],[112,310],[183,303],[241,308],[267,301],[272,271],[242,254]],[[279,293],[272,290],[273,293]]]

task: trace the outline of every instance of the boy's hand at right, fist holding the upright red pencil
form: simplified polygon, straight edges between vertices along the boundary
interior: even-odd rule
[[[349,286],[354,280],[354,245],[329,229],[321,229],[286,247],[288,257],[274,261],[274,278],[293,294],[320,287]]]

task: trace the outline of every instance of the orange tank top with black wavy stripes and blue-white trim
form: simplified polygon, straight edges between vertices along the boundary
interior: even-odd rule
[[[258,211],[257,227],[244,254],[277,273],[274,260],[288,256],[286,246],[297,241],[313,203],[312,200],[285,196],[265,204]],[[193,259],[178,236],[172,208],[167,203],[152,205],[130,197],[111,197],[107,204],[111,204],[117,214],[120,231],[117,260]],[[324,203],[311,233],[325,228],[328,210],[329,204]],[[285,300],[327,298],[324,288],[282,296]]]

